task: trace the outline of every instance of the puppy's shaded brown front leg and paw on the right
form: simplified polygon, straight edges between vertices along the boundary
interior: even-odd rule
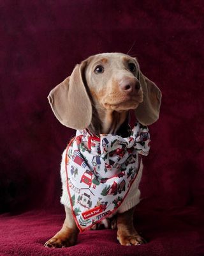
[[[130,210],[117,213],[117,239],[122,245],[137,245],[146,243],[145,239],[138,235],[133,226],[133,212],[135,207]]]

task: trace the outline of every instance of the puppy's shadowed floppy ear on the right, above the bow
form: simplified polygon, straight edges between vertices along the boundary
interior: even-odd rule
[[[150,125],[159,118],[161,91],[155,83],[139,73],[139,81],[143,90],[143,102],[135,109],[137,120],[143,125]]]

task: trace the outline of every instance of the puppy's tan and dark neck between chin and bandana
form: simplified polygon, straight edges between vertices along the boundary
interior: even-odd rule
[[[117,111],[101,108],[97,111],[96,108],[94,108],[89,130],[95,135],[101,133],[117,134],[125,138],[129,136],[128,121],[128,111],[119,113]]]

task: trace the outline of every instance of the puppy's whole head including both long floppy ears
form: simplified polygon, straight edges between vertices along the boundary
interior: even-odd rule
[[[136,59],[126,54],[91,56],[50,92],[48,100],[63,125],[85,129],[91,124],[92,103],[87,90],[97,110],[135,109],[136,118],[143,125],[152,124],[159,118],[159,88],[143,76]]]

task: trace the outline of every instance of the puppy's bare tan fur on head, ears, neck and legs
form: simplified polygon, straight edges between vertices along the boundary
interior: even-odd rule
[[[135,63],[136,71],[130,72],[128,63]],[[104,72],[96,74],[97,65]],[[135,81],[137,90],[130,93],[122,90],[121,83],[127,79]],[[136,88],[136,87],[135,87]],[[59,121],[73,129],[89,129],[100,133],[119,134],[127,137],[130,109],[135,110],[136,118],[143,125],[149,125],[159,118],[161,92],[156,84],[143,76],[135,58],[126,54],[98,54],[82,61],[70,77],[56,86],[48,96],[52,110]],[[59,232],[45,243],[47,247],[72,246],[77,241],[78,228],[65,207],[66,218]],[[133,226],[134,208],[117,214],[117,239],[122,245],[145,243]],[[108,225],[106,223],[106,225]],[[97,227],[97,226],[96,226]]]

